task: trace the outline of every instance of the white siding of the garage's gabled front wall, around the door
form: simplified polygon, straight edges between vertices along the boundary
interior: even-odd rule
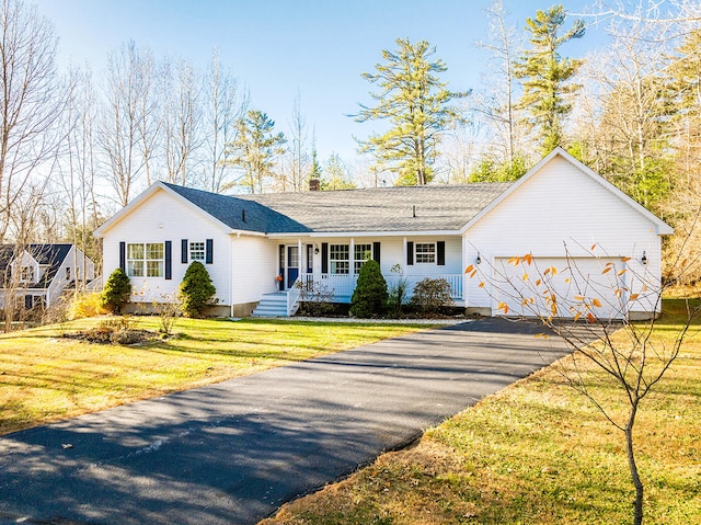
[[[540,261],[565,256],[598,261],[631,258],[627,264],[629,275],[651,279],[653,286],[658,278],[655,275],[659,275],[660,238],[650,220],[559,157],[525,181],[466,236],[464,264],[474,265],[479,253],[482,273],[482,277],[466,277],[468,306],[489,308],[493,313],[498,313],[494,300],[499,294],[491,283],[492,267],[516,255],[529,253]],[[650,261],[646,266],[640,262],[643,250]],[[584,263],[589,264],[594,263]],[[482,282],[485,286],[480,287]],[[640,282],[629,277],[631,294],[643,294]]]

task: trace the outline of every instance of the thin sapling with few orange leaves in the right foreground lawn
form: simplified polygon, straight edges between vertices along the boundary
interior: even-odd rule
[[[633,523],[641,525],[644,484],[635,456],[636,416],[642,401],[659,386],[678,357],[691,321],[701,313],[701,304],[687,301],[686,322],[671,345],[665,344],[654,328],[663,295],[671,282],[660,283],[647,272],[644,261],[611,256],[596,244],[588,250],[579,247],[577,256],[566,247],[565,252],[564,267],[541,267],[531,254],[525,254],[512,258],[509,269],[483,261],[480,266],[468,266],[466,273],[481,279],[481,287],[492,290],[490,294],[499,300],[498,309],[503,313],[538,319],[573,351],[559,370],[621,432],[635,490]],[[685,259],[682,253],[677,254],[674,265],[677,276],[693,271],[700,263],[699,259]],[[596,260],[599,273],[581,269],[577,258],[582,255]],[[562,293],[563,284],[568,293]],[[639,317],[642,313],[645,319],[631,318],[631,311],[639,312]],[[582,359],[607,374],[628,408],[622,416],[597,397],[587,376],[581,372]]]

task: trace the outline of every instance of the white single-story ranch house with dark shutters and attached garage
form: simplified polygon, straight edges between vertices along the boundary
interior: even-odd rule
[[[123,267],[134,303],[168,300],[192,261],[209,271],[222,315],[249,315],[278,289],[284,311],[295,311],[298,279],[347,303],[371,256],[390,284],[446,278],[468,313],[528,313],[514,290],[544,272],[553,297],[604,294],[600,313],[621,317],[656,309],[644,283],[659,284],[662,236],[671,232],[558,148],[515,183],[226,196],[157,182],[95,233],[105,275]],[[530,269],[509,264],[525,254]],[[608,292],[582,285],[599,275]]]

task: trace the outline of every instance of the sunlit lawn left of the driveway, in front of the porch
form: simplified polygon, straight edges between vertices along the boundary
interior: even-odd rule
[[[159,329],[158,317],[133,318]],[[416,331],[421,326],[179,319],[169,340],[123,346],[62,333],[84,319],[0,335],[0,434],[253,374]],[[425,328],[425,327],[424,327]]]

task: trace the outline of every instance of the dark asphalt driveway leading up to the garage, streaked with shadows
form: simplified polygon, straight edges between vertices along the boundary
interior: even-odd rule
[[[0,523],[254,524],[565,353],[482,319],[0,438]]]

